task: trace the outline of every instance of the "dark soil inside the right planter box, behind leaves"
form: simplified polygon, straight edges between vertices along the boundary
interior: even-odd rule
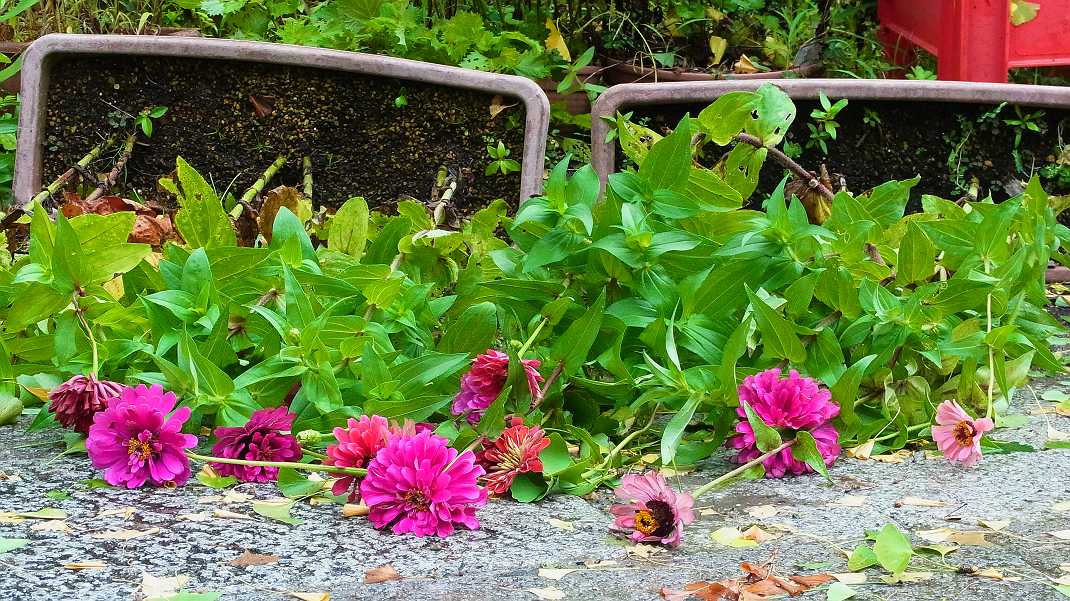
[[[1021,187],[1015,180],[1027,181],[1030,172],[1055,160],[1059,152],[1060,122],[1070,119],[1070,111],[1043,109],[1043,117],[1037,120],[1043,133],[1022,134],[1019,152],[1025,172],[1020,172],[1013,156],[1015,129],[1005,123],[1005,120],[1019,117],[1012,106],[1005,106],[995,118],[981,120],[995,106],[851,101],[837,118],[840,128],[837,139],[827,141],[826,156],[817,147],[806,148],[809,141],[806,124],[812,123],[810,111],[819,107],[817,103],[797,101],[795,104],[798,114],[788,141],[802,147],[801,156],[796,158],[800,165],[814,171],[822,164],[826,165],[830,172],[842,174],[847,188],[856,194],[888,180],[921,175],[908,211],[920,211],[923,194],[958,199],[966,194],[975,179],[981,198],[991,192],[1000,201],[1018,194]],[[648,126],[663,132],[675,126],[686,111],[693,117],[705,106],[638,107],[635,114],[637,119],[647,119]],[[878,124],[865,123],[867,110],[880,118]],[[1039,109],[1023,108],[1022,112],[1027,114],[1036,110]],[[1070,142],[1070,128],[1066,135]],[[617,156],[621,154],[618,152]],[[720,155],[716,153],[709,157],[710,161],[718,158]],[[771,191],[783,174],[777,164],[766,161],[760,194],[753,197],[755,204],[764,198],[761,192]],[[1070,191],[1070,185],[1056,181],[1044,181],[1044,187],[1050,194]]]

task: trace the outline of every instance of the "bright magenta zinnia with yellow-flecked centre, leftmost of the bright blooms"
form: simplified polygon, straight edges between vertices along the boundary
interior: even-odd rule
[[[136,489],[182,486],[189,479],[189,458],[183,449],[197,446],[197,436],[183,434],[189,407],[171,414],[178,402],[158,384],[125,388],[108,409],[93,416],[86,451],[93,466],[114,487]]]

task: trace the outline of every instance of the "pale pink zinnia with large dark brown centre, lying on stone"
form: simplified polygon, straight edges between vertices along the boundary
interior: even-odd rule
[[[616,515],[613,529],[627,534],[632,542],[679,546],[684,525],[694,521],[691,495],[672,490],[653,469],[621,478],[613,494],[626,502],[609,508]]]

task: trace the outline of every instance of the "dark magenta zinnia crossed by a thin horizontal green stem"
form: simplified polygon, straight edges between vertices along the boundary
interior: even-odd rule
[[[248,461],[295,461],[301,459],[301,444],[289,432],[296,414],[287,407],[261,409],[253,412],[245,426],[216,428],[218,442],[212,454]],[[278,467],[213,463],[220,476],[234,476],[243,482],[270,482],[278,479]]]

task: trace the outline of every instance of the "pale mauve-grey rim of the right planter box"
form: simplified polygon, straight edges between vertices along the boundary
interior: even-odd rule
[[[816,98],[825,92],[830,98],[939,102],[966,104],[999,104],[1068,107],[1070,87],[1027,86],[1020,83],[979,83],[972,81],[912,81],[900,79],[777,79],[679,81],[664,83],[624,83],[613,86],[591,108],[592,161],[599,179],[613,171],[616,142],[606,143],[609,123],[602,117],[613,118],[626,107],[712,103],[729,92],[753,91],[765,83],[773,83],[793,99]]]

